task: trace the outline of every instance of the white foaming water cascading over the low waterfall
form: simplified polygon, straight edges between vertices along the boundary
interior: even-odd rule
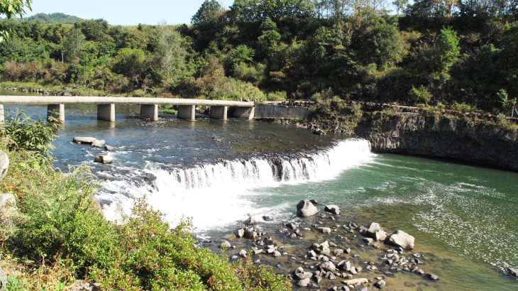
[[[372,159],[368,141],[348,139],[318,153],[290,158],[226,160],[166,170],[163,165],[148,163],[145,170],[134,170],[133,174],[135,177],[145,173],[154,175],[154,187],[136,182],[135,177],[110,180],[107,175],[98,198],[104,202],[108,219],[117,219],[121,212],[128,213],[133,198],[147,195],[150,205],[165,212],[172,223],[188,216],[199,230],[219,229],[245,219],[248,214],[278,212],[285,207],[280,204],[258,209],[253,202],[261,198],[253,191],[256,188],[331,180],[344,170]],[[111,175],[115,177],[116,172]]]

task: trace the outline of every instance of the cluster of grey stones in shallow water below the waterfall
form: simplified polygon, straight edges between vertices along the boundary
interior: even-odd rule
[[[308,206],[312,206],[316,209],[314,204],[317,202],[314,200],[313,202],[304,200],[299,202],[297,214],[304,207],[307,209]],[[231,260],[248,258],[254,263],[277,265],[280,270],[287,270],[293,264],[298,265],[294,270],[284,273],[294,287],[321,289],[321,286],[329,286],[331,290],[367,290],[364,289],[367,288],[366,286],[372,286],[382,289],[390,285],[387,278],[393,280],[397,273],[402,272],[417,275],[424,280],[439,280],[438,276],[426,273],[422,269],[425,265],[424,255],[407,253],[414,248],[414,237],[400,230],[387,234],[376,222],[368,226],[360,226],[353,221],[348,221],[341,225],[338,224],[341,219],[340,209],[336,205],[329,204],[322,207],[327,214],[302,216],[302,219],[299,219],[302,221],[283,221],[275,234],[266,234],[256,225],[259,221],[250,216],[246,221],[248,225],[239,227],[231,236],[225,236],[229,239],[237,239],[237,244],[245,246],[237,248],[228,241],[223,241],[220,246],[230,250],[233,248],[240,250],[233,251],[235,253],[229,255]],[[318,209],[316,210],[318,213]],[[272,219],[271,216],[265,215],[265,217]],[[255,224],[250,224],[252,221]],[[287,247],[280,246],[277,238],[274,238],[274,236],[281,236],[281,239],[303,240],[309,234],[316,235],[317,239],[319,237],[325,239],[320,243],[303,243],[302,246],[297,244],[300,246],[298,255],[295,254],[297,251],[292,249],[294,246],[290,246],[292,252],[288,253]],[[355,248],[355,245],[358,248]],[[389,245],[392,248],[386,247]],[[385,251],[378,251],[376,260],[363,261],[360,259],[359,251],[366,247],[375,252],[383,247]],[[261,256],[264,257],[261,258]],[[283,264],[285,267],[282,267]]]

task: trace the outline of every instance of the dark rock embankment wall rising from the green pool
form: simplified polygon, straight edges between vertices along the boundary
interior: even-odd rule
[[[403,153],[451,158],[518,170],[518,132],[489,123],[451,116],[397,114],[356,128],[375,153]]]

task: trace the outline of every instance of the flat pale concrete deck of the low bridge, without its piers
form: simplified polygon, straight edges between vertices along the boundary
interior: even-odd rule
[[[62,96],[0,96],[0,104],[48,105],[48,104],[170,104],[198,106],[253,107],[254,102],[136,97],[62,97]]]

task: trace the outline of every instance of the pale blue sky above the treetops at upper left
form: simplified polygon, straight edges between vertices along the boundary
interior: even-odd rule
[[[37,13],[61,12],[83,19],[104,18],[111,25],[135,26],[191,23],[191,17],[204,0],[33,0],[33,11],[26,9],[24,17]],[[233,0],[220,1],[225,7]]]

